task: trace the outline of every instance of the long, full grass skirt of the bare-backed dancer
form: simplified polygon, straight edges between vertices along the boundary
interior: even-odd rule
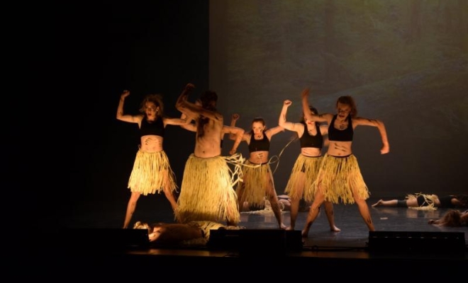
[[[238,224],[238,197],[224,156],[199,158],[191,154],[185,163],[177,209],[179,222],[228,221]]]

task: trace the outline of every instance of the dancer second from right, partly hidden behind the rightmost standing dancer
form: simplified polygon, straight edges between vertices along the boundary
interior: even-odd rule
[[[291,197],[291,225],[287,230],[294,230],[296,226],[300,200],[304,198],[306,202],[313,201],[311,185],[317,178],[318,169],[322,162],[323,135],[328,134],[327,125],[320,125],[318,122],[306,120],[304,116],[302,116],[301,122],[299,123],[287,122],[286,114],[291,104],[291,100],[284,100],[282,112],[278,120],[278,125],[280,127],[296,132],[297,137],[299,137],[301,141],[301,153],[297,157],[296,163],[294,163],[294,167],[284,190],[284,193]],[[313,115],[318,114],[316,108],[311,108],[309,112]],[[330,231],[341,231],[335,226],[333,203],[325,201],[324,206],[328,224],[330,224]]]

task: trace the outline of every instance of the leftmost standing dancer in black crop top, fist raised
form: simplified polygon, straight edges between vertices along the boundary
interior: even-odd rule
[[[177,183],[174,172],[169,165],[169,159],[163,150],[162,142],[167,125],[183,125],[185,120],[164,116],[164,104],[160,94],[145,96],[140,105],[141,114],[123,114],[123,104],[130,91],[123,91],[118,103],[117,119],[123,122],[137,123],[140,129],[140,148],[133,163],[133,170],[128,180],[128,188],[131,191],[128,200],[123,228],[128,228],[135,212],[140,195],[159,194],[164,191],[172,210],[177,208],[174,190]]]

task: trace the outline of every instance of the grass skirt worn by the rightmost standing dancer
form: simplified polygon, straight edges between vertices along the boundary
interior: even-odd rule
[[[312,190],[306,192],[306,200],[313,197],[317,190],[321,190],[326,201],[334,204],[354,204],[355,197],[362,200],[369,198],[369,190],[353,154],[346,157],[325,154]],[[311,193],[312,196],[309,195]]]

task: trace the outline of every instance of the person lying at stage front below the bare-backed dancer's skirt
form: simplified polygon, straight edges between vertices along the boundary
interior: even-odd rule
[[[137,221],[133,229],[147,229],[150,243],[167,245],[202,246],[208,243],[211,230],[242,229],[240,226],[225,226],[213,221],[190,221],[186,224],[156,223]]]

